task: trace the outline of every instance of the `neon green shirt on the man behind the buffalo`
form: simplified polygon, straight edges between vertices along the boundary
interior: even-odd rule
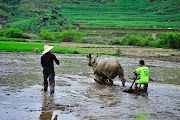
[[[140,74],[141,80],[149,81],[149,69],[146,66],[139,67],[136,72]]]

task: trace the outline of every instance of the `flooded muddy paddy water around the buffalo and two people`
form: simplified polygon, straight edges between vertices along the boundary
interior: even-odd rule
[[[57,54],[61,65],[55,66],[56,88],[54,96],[50,96],[42,91],[40,57],[31,53],[0,53],[1,120],[180,118],[180,63],[145,59],[153,81],[144,97],[122,92],[118,78],[114,81],[119,86],[96,84],[86,55]],[[129,88],[139,59],[116,59],[124,67]]]

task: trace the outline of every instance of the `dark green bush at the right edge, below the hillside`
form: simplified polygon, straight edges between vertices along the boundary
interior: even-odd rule
[[[180,49],[180,33],[161,33],[158,38],[158,47]]]

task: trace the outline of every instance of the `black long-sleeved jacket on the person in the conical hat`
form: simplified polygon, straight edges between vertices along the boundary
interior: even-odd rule
[[[59,65],[59,60],[56,56],[50,52],[44,54],[41,57],[41,65],[43,67],[43,73],[55,73],[54,72],[54,61]]]

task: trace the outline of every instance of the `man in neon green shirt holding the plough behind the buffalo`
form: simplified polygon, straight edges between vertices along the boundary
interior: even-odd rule
[[[138,89],[138,84],[143,84],[144,85],[144,91],[147,92],[148,88],[148,82],[149,82],[149,69],[148,67],[145,66],[144,60],[139,61],[139,68],[134,70],[134,73],[139,73],[140,74],[140,79],[136,81],[135,83],[135,90]]]

